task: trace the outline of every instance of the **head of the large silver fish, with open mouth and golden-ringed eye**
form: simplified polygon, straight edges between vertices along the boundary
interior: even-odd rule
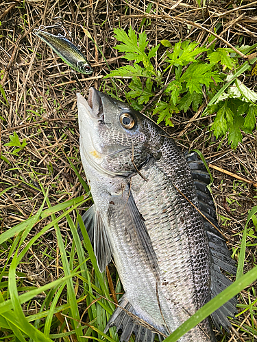
[[[77,94],[77,106],[82,161],[99,172],[130,176],[160,156],[161,129],[127,103],[90,88],[87,101]]]

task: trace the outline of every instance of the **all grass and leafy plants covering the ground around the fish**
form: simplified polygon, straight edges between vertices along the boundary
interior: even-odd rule
[[[103,330],[123,294],[119,275],[112,264],[100,274],[86,231],[83,246],[76,232],[92,204],[79,159],[77,81],[32,34],[60,15],[93,64],[92,77],[77,75],[84,92],[95,86],[154,114],[182,148],[232,173],[210,168],[236,281],[167,341],[238,291],[234,330],[215,330],[217,341],[256,340],[253,8],[248,0],[0,3],[0,341],[118,341],[115,328]]]

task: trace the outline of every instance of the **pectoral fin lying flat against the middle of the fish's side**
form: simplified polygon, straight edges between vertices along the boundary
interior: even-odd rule
[[[159,269],[156,253],[145,227],[145,220],[136,207],[132,192],[110,198],[108,220],[109,224],[114,226],[117,231],[123,226],[125,234],[130,236],[126,243],[135,246],[135,248],[138,246],[138,250],[145,252],[143,257],[145,257],[147,265],[151,265],[152,271],[158,278]]]

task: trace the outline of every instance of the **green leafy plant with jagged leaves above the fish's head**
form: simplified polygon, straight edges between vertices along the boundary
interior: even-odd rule
[[[240,66],[241,56],[232,49],[215,49],[215,44],[208,48],[199,47],[197,42],[189,41],[172,46],[168,40],[161,40],[167,50],[156,70],[153,59],[158,56],[160,44],[150,49],[145,31],[137,35],[132,27],[127,33],[123,29],[114,29],[114,38],[121,42],[114,49],[125,53],[123,57],[134,63],[112,70],[106,77],[132,78],[128,84],[130,91],[126,93],[132,107],[143,109],[156,92],[163,90],[162,100],[153,101],[150,109],[152,114],[158,114],[157,123],[164,120],[165,124],[172,126],[173,114],[186,112],[189,108],[197,111],[205,92],[209,104],[204,114],[216,114],[211,130],[217,138],[228,132],[228,143],[235,148],[242,141],[241,131],[252,133],[256,124],[257,93],[238,78],[245,75],[251,65],[245,62]],[[209,42],[212,40],[210,37]],[[247,54],[256,46],[237,49]],[[165,86],[167,72],[173,78]]]

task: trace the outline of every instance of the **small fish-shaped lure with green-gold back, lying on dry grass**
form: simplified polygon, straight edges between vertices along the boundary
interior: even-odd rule
[[[34,29],[34,34],[38,36],[43,42],[47,43],[53,51],[55,51],[62,60],[75,69],[78,73],[90,75],[93,73],[93,68],[90,66],[88,60],[75,45],[70,42],[62,34],[55,36],[43,29]]]

